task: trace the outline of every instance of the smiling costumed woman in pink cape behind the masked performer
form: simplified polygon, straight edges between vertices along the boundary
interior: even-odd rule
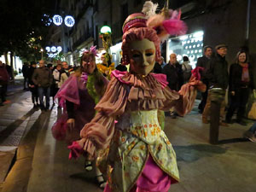
[[[96,46],[84,51],[80,68],[70,75],[55,96],[64,107],[64,113],[52,127],[53,135],[57,140],[66,140],[69,144],[78,140],[83,126],[96,114],[94,108],[108,84],[108,79],[97,71],[96,55]],[[92,170],[90,160],[85,160],[84,168],[87,171]],[[104,188],[106,182],[97,167],[96,179],[100,187]]]

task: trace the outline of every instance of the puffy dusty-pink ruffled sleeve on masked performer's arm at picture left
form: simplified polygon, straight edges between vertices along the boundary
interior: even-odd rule
[[[84,151],[96,156],[96,148],[107,148],[114,131],[115,116],[124,113],[128,91],[113,77],[102,100],[96,105],[96,116],[84,125],[80,137],[85,138]]]

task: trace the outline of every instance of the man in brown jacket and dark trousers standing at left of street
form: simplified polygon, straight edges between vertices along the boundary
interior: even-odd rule
[[[41,110],[49,109],[50,85],[52,84],[52,74],[48,67],[45,67],[45,61],[39,61],[39,68],[32,75],[32,81],[38,86],[38,96]],[[44,107],[44,96],[46,97],[46,106]]]

